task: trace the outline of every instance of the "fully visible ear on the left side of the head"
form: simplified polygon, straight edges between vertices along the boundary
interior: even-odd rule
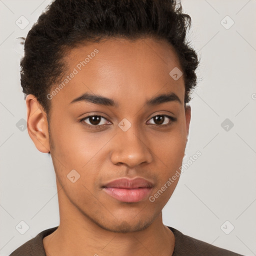
[[[27,131],[35,147],[42,153],[48,153],[49,134],[46,113],[32,94],[26,96]]]

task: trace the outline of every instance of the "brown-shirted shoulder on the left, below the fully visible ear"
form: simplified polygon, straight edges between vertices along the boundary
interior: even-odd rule
[[[9,256],[45,256],[42,239],[56,229],[57,226],[41,231],[34,238],[26,241],[12,251]]]

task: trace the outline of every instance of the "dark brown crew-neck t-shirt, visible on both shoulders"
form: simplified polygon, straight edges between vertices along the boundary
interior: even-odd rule
[[[45,229],[34,238],[16,248],[9,256],[46,256],[42,239],[57,229],[58,226]],[[222,249],[209,243],[184,235],[177,229],[168,226],[175,237],[172,256],[242,256],[230,250]]]

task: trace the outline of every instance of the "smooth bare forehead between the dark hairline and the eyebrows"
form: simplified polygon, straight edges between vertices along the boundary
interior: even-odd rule
[[[52,104],[70,103],[84,92],[100,94],[126,104],[146,101],[154,95],[174,92],[183,102],[183,76],[174,80],[173,68],[181,70],[174,48],[165,40],[112,38],[72,48],[63,57],[66,70],[52,88],[61,89]],[[126,105],[127,106],[127,105]]]

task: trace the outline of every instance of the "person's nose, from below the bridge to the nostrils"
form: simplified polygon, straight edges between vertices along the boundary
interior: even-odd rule
[[[141,135],[141,133],[135,126],[131,126],[126,131],[117,129],[110,155],[113,164],[123,163],[129,168],[133,168],[141,163],[152,161],[149,140],[145,134]]]

